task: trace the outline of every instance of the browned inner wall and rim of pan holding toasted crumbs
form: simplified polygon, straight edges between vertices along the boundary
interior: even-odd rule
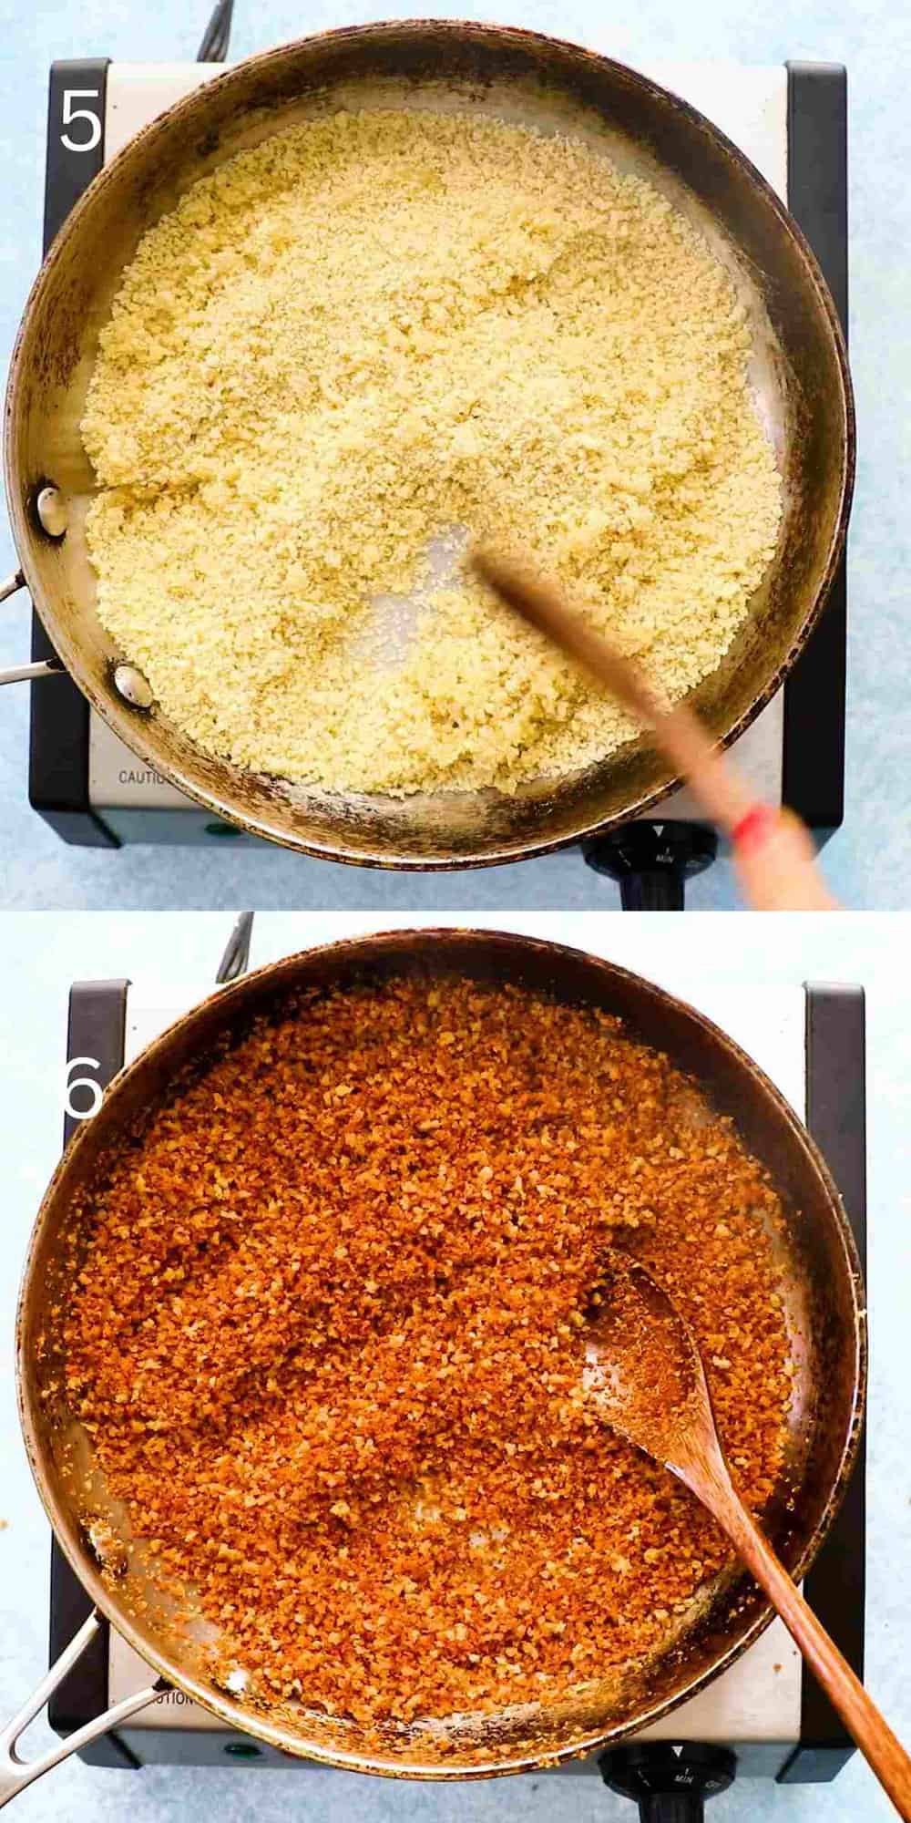
[[[720,1590],[681,1644],[623,1684],[599,1686],[585,1701],[523,1714],[463,1717],[448,1725],[448,1746],[426,1725],[388,1732],[377,1745],[363,1726],[308,1712],[255,1714],[217,1688],[202,1655],[188,1648],[160,1597],[133,1568],[102,1581],[80,1524],[84,1493],[73,1488],[62,1435],[66,1413],[46,1400],[58,1360],[53,1347],[38,1367],[36,1338],[53,1338],[51,1305],[67,1296],[62,1236],[77,1192],[95,1179],[107,1148],[149,1103],[168,1096],[175,1072],[204,1056],[215,1037],[281,1006],[302,986],[337,988],[401,972],[457,973],[543,988],[568,1003],[619,1014],[629,1030],[661,1048],[689,1072],[711,1103],[736,1119],[749,1148],[769,1169],[785,1216],[789,1322],[798,1342],[794,1416],[787,1486],[773,1502],[767,1528],[794,1575],[805,1571],[840,1502],[856,1453],[864,1407],[864,1289],[853,1238],[827,1169],[769,1079],[745,1054],[692,1008],[625,970],[579,950],[488,932],[394,932],[288,957],[204,1001],[115,1083],[62,1159],[35,1227],[26,1269],[18,1385],[31,1466],[55,1531],[91,1599],[171,1684],[213,1710],[231,1728],[246,1728],[292,1754],[306,1754],[364,1772],[410,1777],[465,1777],[517,1772],[545,1759],[598,1746],[656,1721],[694,1695],[762,1632],[771,1610],[747,1577]],[[71,1429],[71,1426],[69,1426]],[[106,1506],[86,1438],[84,1466],[95,1475],[93,1506]],[[785,1506],[787,1499],[787,1506]],[[117,1513],[111,1508],[115,1528]],[[149,1608],[138,1602],[149,1601]]]

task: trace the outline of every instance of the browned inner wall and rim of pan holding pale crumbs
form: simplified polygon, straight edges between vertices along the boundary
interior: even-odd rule
[[[723,664],[692,695],[734,740],[774,695],[829,589],[853,481],[844,341],[818,266],[760,173],[701,115],[621,64],[534,33],[452,20],[352,27],[250,58],[131,140],[66,222],[31,294],[5,423],[26,580],[64,664],[122,740],[219,817],[292,848],[375,866],[477,866],[541,853],[640,815],[674,784],[641,740],[516,797],[404,800],[284,786],[211,758],[111,684],[122,654],[95,611],[84,514],[95,489],[78,425],[120,277],[144,230],[206,171],[277,128],[346,108],[470,109],[585,137],[663,190],[729,266],[752,330],[752,381],[783,478],[769,576]],[[38,483],[71,501],[60,543],[29,512]],[[49,685],[55,687],[55,685]]]

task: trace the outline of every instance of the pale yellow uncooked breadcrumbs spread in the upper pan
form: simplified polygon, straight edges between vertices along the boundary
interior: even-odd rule
[[[434,534],[508,540],[676,698],[774,551],[732,281],[649,184],[468,115],[337,113],[142,241],[84,438],[98,609],[202,747],[337,789],[581,767],[625,716],[450,578],[399,662],[364,629]]]

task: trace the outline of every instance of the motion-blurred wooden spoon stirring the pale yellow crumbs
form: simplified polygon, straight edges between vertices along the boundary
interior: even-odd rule
[[[672,767],[689,778],[712,822],[731,837],[734,866],[756,912],[833,912],[834,899],[816,866],[807,829],[789,809],[756,800],[734,762],[678,702],[667,709],[645,675],[616,651],[558,583],[490,545],[476,545],[472,569],[528,625],[543,633],[629,713],[650,727]]]

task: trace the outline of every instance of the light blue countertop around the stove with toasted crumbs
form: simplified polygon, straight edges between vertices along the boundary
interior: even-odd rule
[[[479,917],[479,922],[494,919]],[[253,961],[313,941],[377,926],[368,915],[264,915]],[[856,981],[867,992],[869,1103],[869,1544],[867,1683],[891,1723],[911,1739],[907,1639],[911,1637],[911,1395],[907,1378],[907,1127],[911,1079],[911,986],[902,979],[895,919],[749,919],[738,942],[723,942],[727,919],[603,919],[527,915],[499,919],[581,948],[592,946],[652,979],[680,986],[712,981],[778,988],[802,981]],[[49,1533],[18,1435],[11,1344],[16,1282],[42,1189],[60,1148],[66,1003],[73,979],[131,975],[137,992],[162,1004],[175,981],[202,994],[211,984],[230,917],[42,913],[2,921],[4,1025],[16,1035],[15,1061],[0,1061],[0,1721],[18,1708],[46,1666]],[[720,928],[722,926],[722,928]],[[149,990],[157,988],[157,995]],[[2,1056],[2,1052],[0,1052]],[[35,1741],[47,1732],[33,1730]],[[359,1779],[337,1772],[224,1772],[144,1768],[107,1772],[69,1761],[36,1783],[15,1812],[20,1823],[169,1823],[189,1816],[222,1823],[599,1823],[634,1819],[598,1779],[559,1776],[499,1779],[459,1788]],[[13,1814],[13,1812],[11,1812]],[[709,1823],[887,1823],[893,1810],[860,1757],[829,1787],[780,1788],[743,1781],[712,1801]]]

